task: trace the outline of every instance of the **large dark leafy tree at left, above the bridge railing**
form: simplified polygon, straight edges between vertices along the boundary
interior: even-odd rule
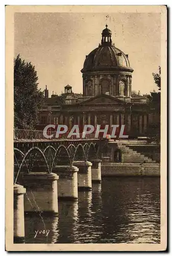
[[[14,59],[14,127],[18,129],[34,129],[38,123],[44,95],[37,81],[35,66],[18,54]]]

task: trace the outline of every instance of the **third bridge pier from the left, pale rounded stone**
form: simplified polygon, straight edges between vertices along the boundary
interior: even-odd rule
[[[76,166],[53,167],[53,173],[59,176],[58,198],[71,201],[78,199],[78,170]]]

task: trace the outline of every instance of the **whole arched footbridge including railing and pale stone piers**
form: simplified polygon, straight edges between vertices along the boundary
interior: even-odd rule
[[[43,131],[14,130],[15,239],[24,237],[24,212],[57,214],[59,199],[78,200],[78,190],[101,182],[106,145],[93,134],[46,139]]]

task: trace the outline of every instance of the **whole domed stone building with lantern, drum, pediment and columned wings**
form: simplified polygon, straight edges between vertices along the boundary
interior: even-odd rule
[[[129,55],[113,44],[107,25],[102,31],[101,44],[86,55],[81,72],[83,94],[73,93],[67,85],[61,96],[45,97],[40,127],[66,124],[70,130],[74,124],[80,127],[125,124],[129,138],[147,135],[149,124],[157,122],[156,115],[150,112],[146,96],[140,93],[132,96],[133,69]]]

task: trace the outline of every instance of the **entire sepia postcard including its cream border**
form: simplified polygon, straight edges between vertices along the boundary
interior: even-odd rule
[[[6,250],[166,249],[166,12],[6,7]]]

